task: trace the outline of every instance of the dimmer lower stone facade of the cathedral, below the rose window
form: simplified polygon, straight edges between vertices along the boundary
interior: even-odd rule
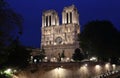
[[[77,46],[78,47],[78,46]],[[62,54],[64,52],[66,58],[72,58],[72,55],[77,48],[75,44],[66,44],[66,45],[50,45],[45,46],[45,53],[48,58],[59,58],[59,53]]]

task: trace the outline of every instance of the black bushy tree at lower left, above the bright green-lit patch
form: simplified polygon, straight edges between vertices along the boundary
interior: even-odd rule
[[[19,39],[12,42],[8,51],[9,55],[5,63],[6,65],[17,68],[25,68],[28,66],[31,50],[21,45]]]

